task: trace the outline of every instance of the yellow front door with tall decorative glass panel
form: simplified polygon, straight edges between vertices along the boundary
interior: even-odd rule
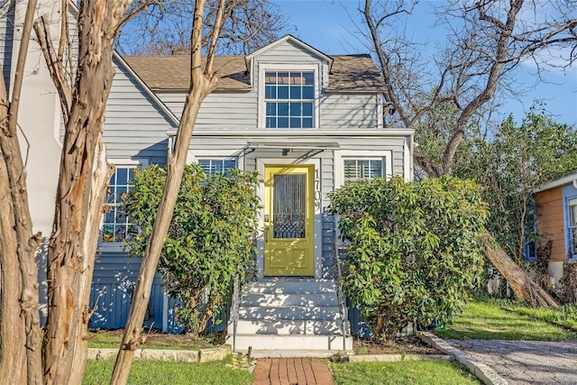
[[[264,170],[264,275],[315,275],[314,166]]]

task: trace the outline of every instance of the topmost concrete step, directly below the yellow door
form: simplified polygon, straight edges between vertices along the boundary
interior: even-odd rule
[[[333,280],[269,279],[251,282],[243,294],[327,294],[336,292]]]

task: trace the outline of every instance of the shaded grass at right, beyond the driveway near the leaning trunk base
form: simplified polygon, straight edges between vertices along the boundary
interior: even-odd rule
[[[452,325],[435,332],[442,338],[481,340],[569,341],[577,334],[536,320],[531,316],[508,312],[497,303],[472,301]]]

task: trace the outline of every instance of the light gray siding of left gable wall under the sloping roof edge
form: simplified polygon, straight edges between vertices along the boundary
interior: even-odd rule
[[[103,137],[108,158],[147,159],[164,164],[166,131],[176,127],[118,60],[114,59],[113,65],[115,74],[106,104]]]

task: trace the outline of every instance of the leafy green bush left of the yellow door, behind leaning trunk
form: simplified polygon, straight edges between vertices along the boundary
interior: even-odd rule
[[[130,223],[140,228],[127,243],[131,256],[144,254],[165,179],[157,165],[134,173],[134,188],[124,199]],[[243,281],[252,266],[256,182],[256,173],[241,170],[206,176],[197,164],[185,168],[159,272],[164,289],[181,303],[177,319],[187,332],[204,331],[226,304],[235,274]]]

